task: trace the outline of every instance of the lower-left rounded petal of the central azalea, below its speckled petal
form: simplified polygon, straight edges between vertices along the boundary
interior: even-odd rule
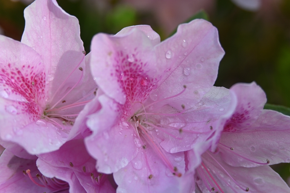
[[[85,139],[87,150],[98,160],[96,168],[99,172],[117,172],[133,160],[137,154],[137,138],[133,134],[134,128],[128,122],[122,122]]]

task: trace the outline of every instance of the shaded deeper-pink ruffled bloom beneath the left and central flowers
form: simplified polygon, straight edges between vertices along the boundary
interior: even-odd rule
[[[96,160],[87,153],[83,139],[68,141],[59,150],[39,155],[36,163],[44,176],[68,182],[69,192],[116,192],[110,176],[96,171]]]

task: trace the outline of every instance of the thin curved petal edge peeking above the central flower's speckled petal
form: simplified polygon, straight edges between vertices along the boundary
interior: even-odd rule
[[[153,45],[160,43],[160,36],[158,35],[158,33],[152,30],[152,28],[149,25],[136,25],[136,26],[125,27],[121,31],[119,31],[115,36],[121,36],[134,29],[143,31],[148,36],[148,38],[152,41]]]

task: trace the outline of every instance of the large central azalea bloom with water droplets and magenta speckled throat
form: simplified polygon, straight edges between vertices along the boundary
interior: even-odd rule
[[[91,50],[99,90],[83,112],[98,171],[114,173],[118,192],[189,189],[183,151],[209,138],[231,107],[230,93],[212,87],[224,55],[216,28],[195,20],[160,43],[149,26],[127,27],[97,34]]]

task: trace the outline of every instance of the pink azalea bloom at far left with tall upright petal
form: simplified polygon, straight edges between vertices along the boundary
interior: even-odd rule
[[[25,150],[57,150],[71,130],[79,134],[72,125],[96,84],[85,66],[76,17],[55,0],[36,0],[24,17],[21,43],[0,36],[0,143],[29,158]]]

